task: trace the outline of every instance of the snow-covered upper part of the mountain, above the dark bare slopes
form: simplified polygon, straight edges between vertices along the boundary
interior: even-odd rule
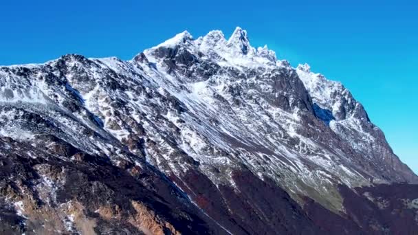
[[[0,85],[0,135],[63,161],[151,164],[203,210],[193,182],[239,193],[243,171],[336,213],[339,185],[418,182],[347,89],[252,47],[239,27],[228,40],[182,32],[129,61],[0,67]]]

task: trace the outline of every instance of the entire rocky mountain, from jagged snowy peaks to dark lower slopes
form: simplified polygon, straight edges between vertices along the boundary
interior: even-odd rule
[[[340,83],[188,32],[0,67],[1,234],[413,234],[418,177]]]

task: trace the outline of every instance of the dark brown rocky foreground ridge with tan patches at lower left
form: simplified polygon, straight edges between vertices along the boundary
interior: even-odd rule
[[[223,231],[146,163],[71,162],[4,137],[0,149],[2,234]]]

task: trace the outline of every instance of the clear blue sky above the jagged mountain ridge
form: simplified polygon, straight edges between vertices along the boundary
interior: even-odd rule
[[[367,2],[367,3],[364,3]],[[418,3],[415,1],[0,2],[0,65],[67,53],[130,59],[188,30],[239,25],[252,45],[340,80],[418,172]]]

